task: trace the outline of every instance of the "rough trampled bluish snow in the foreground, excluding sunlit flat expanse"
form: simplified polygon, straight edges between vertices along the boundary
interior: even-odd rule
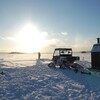
[[[99,100],[100,88],[92,88],[89,75],[52,69],[47,60],[21,68],[3,68],[0,75],[1,100]]]

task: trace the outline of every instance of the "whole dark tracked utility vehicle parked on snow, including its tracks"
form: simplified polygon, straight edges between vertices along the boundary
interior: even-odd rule
[[[80,60],[79,56],[72,55],[72,48],[55,48],[53,53],[52,62],[48,64],[50,68],[70,69],[75,73],[81,72],[82,74],[89,74],[91,72],[84,68],[81,64],[75,62]]]

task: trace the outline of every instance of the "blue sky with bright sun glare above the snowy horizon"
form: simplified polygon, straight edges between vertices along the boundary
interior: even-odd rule
[[[100,37],[100,0],[0,0],[0,51],[91,50]]]

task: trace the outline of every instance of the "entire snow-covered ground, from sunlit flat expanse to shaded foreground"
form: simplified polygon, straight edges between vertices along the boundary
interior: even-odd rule
[[[0,100],[100,100],[100,77],[49,68],[51,55],[0,54]],[[90,67],[89,61],[79,61]]]

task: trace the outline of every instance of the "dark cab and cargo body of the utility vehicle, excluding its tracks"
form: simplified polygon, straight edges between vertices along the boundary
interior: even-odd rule
[[[55,48],[52,61],[56,64],[58,60],[61,63],[73,64],[74,61],[79,60],[80,57],[72,56],[71,48]]]

